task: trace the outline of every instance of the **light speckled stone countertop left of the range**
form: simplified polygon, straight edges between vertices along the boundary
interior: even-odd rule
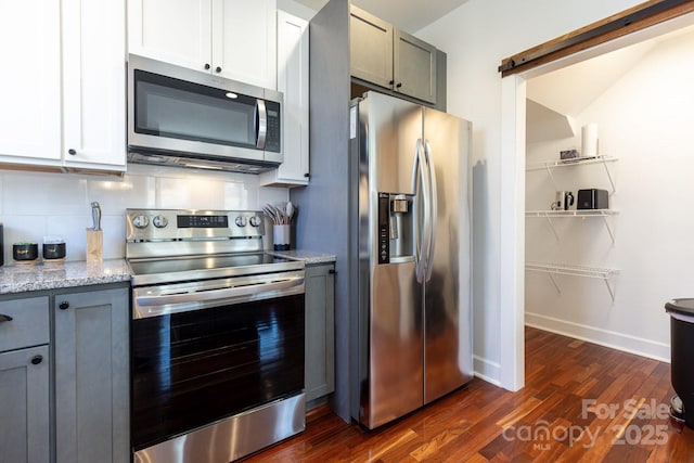
[[[18,263],[0,267],[0,294],[130,281],[125,259]]]

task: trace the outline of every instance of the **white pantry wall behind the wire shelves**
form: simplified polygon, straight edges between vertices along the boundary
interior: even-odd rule
[[[596,123],[601,153],[619,158],[611,165],[617,176],[611,206],[620,213],[611,219],[615,244],[600,219],[555,220],[561,242],[545,221],[528,219],[527,258],[620,269],[616,298],[613,304],[599,280],[557,276],[557,294],[547,275],[529,272],[529,324],[669,361],[664,305],[694,296],[694,215],[687,201],[694,197],[692,50],[694,34],[658,43],[576,115],[579,126]],[[528,164],[554,160],[560,150],[580,144],[580,133],[530,144]],[[609,189],[601,166],[558,170],[557,183],[574,194],[579,188]],[[547,175],[528,172],[527,208],[547,209],[553,197]]]

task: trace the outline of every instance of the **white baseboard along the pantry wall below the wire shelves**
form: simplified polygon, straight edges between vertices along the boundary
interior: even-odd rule
[[[525,312],[525,324],[551,333],[670,363],[669,344],[657,343],[643,337],[602,330],[531,312]]]

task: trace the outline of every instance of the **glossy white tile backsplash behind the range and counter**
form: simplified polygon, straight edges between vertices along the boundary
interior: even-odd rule
[[[127,208],[257,210],[287,200],[286,188],[259,187],[246,173],[145,165],[129,165],[123,178],[0,170],[4,262],[13,265],[13,243],[41,244],[47,235],[65,241],[66,260],[83,260],[93,201],[102,210],[104,259],[112,259],[125,256]]]

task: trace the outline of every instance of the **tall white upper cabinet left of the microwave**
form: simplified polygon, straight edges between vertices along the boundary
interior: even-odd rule
[[[125,170],[125,0],[0,2],[0,168]]]

